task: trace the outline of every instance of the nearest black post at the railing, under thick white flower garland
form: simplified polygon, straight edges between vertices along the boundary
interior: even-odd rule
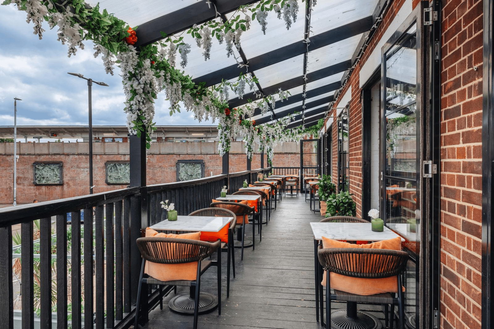
[[[139,284],[139,270],[141,268],[141,253],[135,241],[143,236],[147,226],[147,196],[146,194],[146,135],[131,135],[130,142],[130,187],[141,187],[141,196],[130,199],[130,299],[131,304],[137,302],[137,286]],[[143,188],[144,187],[144,188]],[[143,220],[145,218],[145,221]],[[143,306],[147,298],[148,289],[141,289]],[[145,307],[144,307],[145,308]],[[140,313],[147,319],[147,310]]]

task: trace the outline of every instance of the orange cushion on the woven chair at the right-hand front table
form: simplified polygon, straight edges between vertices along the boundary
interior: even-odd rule
[[[323,248],[374,248],[401,250],[400,237],[364,245],[354,245],[347,242],[332,240],[326,237],[322,238]],[[353,278],[331,272],[329,273],[329,279],[331,280],[332,289],[355,293],[358,295],[373,295],[376,293],[384,292],[398,292],[398,278],[396,276],[382,279],[366,279]],[[323,281],[321,282],[321,285],[326,286],[326,271],[324,271]],[[403,291],[405,291],[404,287]]]

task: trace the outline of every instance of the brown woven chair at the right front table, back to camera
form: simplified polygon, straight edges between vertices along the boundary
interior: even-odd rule
[[[402,274],[407,266],[408,257],[408,253],[405,251],[390,249],[326,248],[319,250],[319,262],[326,270],[326,328],[331,328],[331,300],[338,300],[365,304],[391,304],[391,328],[393,328],[394,305],[398,305],[400,317],[399,328],[403,329],[404,296],[402,291]],[[367,279],[397,276],[398,297],[395,296],[395,293],[391,292],[374,295],[359,295],[335,289],[331,292],[329,272],[353,278]],[[355,317],[356,314],[347,314],[347,319],[344,321],[351,321]]]

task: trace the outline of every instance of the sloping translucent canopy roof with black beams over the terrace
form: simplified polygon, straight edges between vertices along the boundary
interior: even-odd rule
[[[320,0],[313,6],[308,26],[306,2],[299,1],[297,20],[287,31],[285,22],[276,13],[269,12],[264,35],[257,21],[242,34],[241,49],[234,49],[234,56],[227,57],[224,44],[213,38],[210,59],[205,61],[202,48],[198,48],[192,37],[184,31],[194,24],[216,19],[226,21],[236,15],[239,6],[256,1],[248,0],[86,0],[100,8],[106,8],[130,26],[138,26],[137,44],[145,45],[162,40],[161,32],[182,36],[191,44],[189,64],[185,74],[196,83],[206,86],[222,80],[236,80],[241,73],[251,73],[259,80],[256,91],[269,95],[290,90],[291,96],[276,102],[276,109],[261,116],[256,109],[256,123],[269,123],[284,116],[302,112],[305,119],[297,115],[289,127],[311,125],[324,118],[335,92],[341,87],[345,71],[355,62],[356,54],[363,44],[367,32],[376,23],[386,0]],[[256,19],[254,19],[256,20]],[[308,32],[310,43],[304,42]],[[237,60],[235,59],[237,58]],[[242,66],[237,63],[247,64]],[[307,65],[306,65],[307,64]],[[305,75],[305,79],[304,79]],[[303,94],[305,92],[306,98]],[[233,93],[232,93],[233,94]],[[230,106],[239,107],[247,100],[255,100],[253,92],[243,99],[232,98]],[[317,118],[317,119],[315,119]]]

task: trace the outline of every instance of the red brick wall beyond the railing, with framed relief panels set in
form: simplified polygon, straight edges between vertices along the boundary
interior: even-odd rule
[[[13,165],[12,155],[0,156],[0,204],[13,202]],[[147,160],[147,184],[162,184],[176,181],[176,163],[178,160],[204,160],[205,175],[221,174],[222,159],[218,154],[149,154]],[[105,163],[108,161],[129,161],[128,155],[93,155],[94,193],[118,190],[126,185],[108,185],[105,183]],[[62,162],[63,185],[34,185],[34,162]],[[251,168],[261,165],[260,154],[254,154]],[[274,166],[298,166],[298,154],[275,153]],[[264,166],[268,166],[264,155]],[[245,153],[230,154],[230,172],[247,169]],[[17,162],[17,203],[28,204],[34,199],[41,201],[70,198],[89,194],[89,163],[87,155],[22,155]]]

